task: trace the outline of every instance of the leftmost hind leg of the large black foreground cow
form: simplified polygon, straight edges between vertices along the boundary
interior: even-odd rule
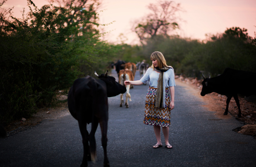
[[[79,129],[82,135],[82,143],[83,143],[83,147],[84,147],[84,155],[83,155],[83,160],[82,160],[82,164],[81,167],[87,167],[87,158],[90,159],[90,148],[89,148],[89,133],[86,129],[86,122],[85,121],[78,121],[79,124]]]

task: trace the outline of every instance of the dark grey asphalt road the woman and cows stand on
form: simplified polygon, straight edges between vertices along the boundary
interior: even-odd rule
[[[199,98],[179,85],[175,87],[175,108],[171,111],[173,148],[153,149],[156,143],[153,127],[143,123],[147,90],[148,84],[131,89],[129,108],[119,107],[119,95],[108,99],[110,166],[256,167],[256,139],[232,131],[243,125],[235,118],[220,120],[214,112],[202,107],[204,103]],[[103,166],[99,127],[95,138],[97,161],[89,162],[89,167]],[[33,128],[0,139],[0,167],[79,167],[82,154],[82,137],[71,115],[44,120]]]

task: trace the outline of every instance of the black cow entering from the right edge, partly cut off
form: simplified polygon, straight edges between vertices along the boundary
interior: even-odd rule
[[[256,73],[240,71],[236,69],[226,68],[220,76],[213,78],[205,78],[203,76],[203,88],[201,91],[201,96],[206,94],[216,92],[221,95],[226,95],[226,110],[224,115],[228,113],[228,105],[230,99],[234,97],[236,105],[238,107],[238,117],[241,117],[241,109],[239,104],[239,99],[237,94],[250,96],[256,95],[255,80]]]

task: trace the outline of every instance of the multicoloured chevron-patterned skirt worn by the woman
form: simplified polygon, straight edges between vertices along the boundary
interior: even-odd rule
[[[144,115],[144,124],[155,126],[171,126],[170,125],[170,93],[165,88],[165,108],[155,108],[157,88],[149,87],[146,96],[146,106]]]

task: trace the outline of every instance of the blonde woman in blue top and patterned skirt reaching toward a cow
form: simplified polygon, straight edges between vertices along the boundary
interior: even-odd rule
[[[125,81],[125,85],[141,85],[149,80],[146,96],[144,124],[153,125],[157,144],[153,148],[162,147],[161,126],[166,148],[172,148],[169,143],[170,111],[174,109],[174,69],[167,66],[161,52],[154,52],[150,57],[152,66],[145,75],[137,81]],[[171,95],[170,95],[171,94]]]

